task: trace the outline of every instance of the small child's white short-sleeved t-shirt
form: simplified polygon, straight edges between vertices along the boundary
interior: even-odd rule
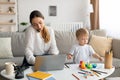
[[[88,44],[86,44],[84,46],[76,44],[70,50],[70,54],[72,54],[74,56],[75,63],[78,63],[78,64],[80,63],[80,61],[89,62],[90,57],[94,53],[95,53],[95,51]]]

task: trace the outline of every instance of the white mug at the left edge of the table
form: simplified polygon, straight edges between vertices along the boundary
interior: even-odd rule
[[[14,73],[14,63],[13,62],[6,62],[5,63],[5,71],[7,75],[12,75]]]

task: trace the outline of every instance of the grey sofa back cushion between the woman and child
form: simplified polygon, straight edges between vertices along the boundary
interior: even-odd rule
[[[69,53],[71,47],[77,43],[75,32],[55,31],[57,47],[60,53]]]

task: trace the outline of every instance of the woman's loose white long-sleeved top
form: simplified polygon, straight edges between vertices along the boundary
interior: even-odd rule
[[[58,54],[58,48],[56,46],[54,31],[51,27],[46,27],[50,33],[50,41],[44,42],[44,39],[32,26],[28,27],[25,31],[26,48],[25,56],[30,64],[35,63],[34,55],[43,55],[45,53]]]

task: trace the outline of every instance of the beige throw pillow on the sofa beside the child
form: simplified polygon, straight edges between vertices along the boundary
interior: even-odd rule
[[[89,44],[100,56],[105,56],[105,51],[110,51],[112,47],[112,38],[92,35]]]

